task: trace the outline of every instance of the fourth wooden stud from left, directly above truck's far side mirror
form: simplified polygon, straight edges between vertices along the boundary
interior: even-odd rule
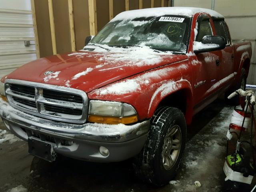
[[[96,0],[88,0],[88,9],[89,9],[89,22],[90,22],[90,35],[96,35],[97,33]]]

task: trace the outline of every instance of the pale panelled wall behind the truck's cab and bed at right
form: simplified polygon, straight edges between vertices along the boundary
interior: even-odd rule
[[[256,84],[256,0],[172,0],[174,6],[213,9],[228,24],[232,40],[252,42],[252,59],[247,84]]]

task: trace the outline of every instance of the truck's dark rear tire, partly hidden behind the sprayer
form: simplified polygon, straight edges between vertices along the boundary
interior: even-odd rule
[[[242,90],[245,90],[245,88],[246,88],[246,70],[244,68],[242,68],[242,70],[241,70],[241,74],[240,74],[240,77],[239,77],[239,80],[238,80],[238,84],[235,86],[235,88],[232,89],[232,90],[229,90],[225,93],[225,100],[226,100],[227,104],[233,105],[233,106],[237,106],[237,105],[240,104],[238,95],[234,96],[232,99],[228,99],[228,96],[232,92],[234,92],[234,91],[236,91],[240,88]]]

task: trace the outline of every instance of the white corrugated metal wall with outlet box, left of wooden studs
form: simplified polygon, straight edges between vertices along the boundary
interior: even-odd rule
[[[35,59],[30,0],[0,0],[0,78]]]

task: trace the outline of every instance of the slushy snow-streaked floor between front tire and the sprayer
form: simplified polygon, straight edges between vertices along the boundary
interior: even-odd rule
[[[224,107],[204,126],[203,133],[196,134],[192,138],[193,141],[187,142],[181,171],[169,182],[173,192],[221,191],[221,183],[218,181],[222,180],[226,131],[232,110],[233,107]],[[202,178],[207,179],[201,180]],[[196,186],[196,181],[199,181],[201,186]]]

